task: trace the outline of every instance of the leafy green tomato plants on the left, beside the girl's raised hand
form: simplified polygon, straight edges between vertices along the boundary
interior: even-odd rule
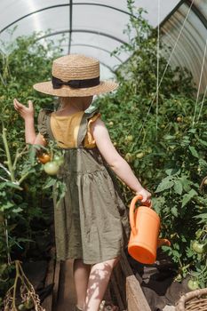
[[[40,108],[51,105],[50,97],[34,92],[31,86],[36,83],[36,76],[43,81],[50,78],[51,62],[60,56],[60,46],[52,47],[49,41],[42,45],[35,34],[0,42],[0,297],[4,298],[15,275],[10,262],[16,256],[25,260],[31,244],[36,244],[31,243],[36,232],[34,223],[37,219],[44,223],[42,203],[48,197],[45,177],[36,163],[36,150],[25,148],[24,123],[12,101],[32,100],[36,116]]]

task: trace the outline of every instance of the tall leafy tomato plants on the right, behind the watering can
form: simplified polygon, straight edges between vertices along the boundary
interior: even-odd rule
[[[205,254],[193,251],[191,241],[207,221],[206,189],[200,187],[207,175],[207,110],[203,109],[200,116],[197,112],[194,122],[195,84],[184,68],[169,66],[156,94],[157,34],[142,18],[142,10],[135,10],[132,2],[128,5],[131,20],[126,33],[130,37],[132,30],[139,36],[121,47],[132,57],[116,70],[120,87],[97,99],[96,104],[115,148],[152,192],[153,206],[162,221],[161,235],[171,240],[171,247],[163,246],[163,250],[177,264],[182,277],[196,272],[204,287]],[[163,55],[171,51],[162,43],[160,51],[162,73],[167,65]],[[117,49],[114,54],[119,52]],[[129,204],[131,190],[120,186]]]

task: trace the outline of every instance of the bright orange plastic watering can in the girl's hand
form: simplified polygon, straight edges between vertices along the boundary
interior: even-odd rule
[[[131,200],[130,224],[131,235],[128,243],[128,251],[133,259],[143,264],[152,264],[156,259],[156,249],[161,245],[170,246],[167,239],[159,239],[160,218],[151,209],[152,203],[139,206],[136,211],[137,201],[142,200],[141,195],[136,195]]]

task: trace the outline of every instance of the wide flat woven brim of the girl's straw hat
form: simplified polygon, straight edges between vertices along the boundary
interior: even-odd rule
[[[84,96],[100,95],[106,92],[112,92],[118,87],[118,84],[116,84],[113,81],[100,81],[99,85],[88,88],[74,89],[69,87],[68,85],[63,85],[60,89],[53,89],[52,82],[48,81],[35,84],[33,85],[33,87],[38,92],[42,92],[44,94],[49,94],[53,96],[84,97]]]

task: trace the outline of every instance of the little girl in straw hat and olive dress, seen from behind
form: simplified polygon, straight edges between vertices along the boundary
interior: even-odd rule
[[[70,54],[53,61],[51,82],[34,85],[36,91],[60,97],[57,112],[40,112],[37,135],[32,102],[26,107],[14,100],[25,121],[26,143],[45,146],[54,140],[65,150],[59,176],[67,191],[54,208],[55,238],[57,259],[74,259],[76,310],[108,310],[101,300],[128,243],[128,211],[113,171],[136,195],[142,195],[143,203],[150,199],[115,150],[98,110],[85,112],[93,95],[116,87],[114,82],[100,81],[98,60]]]

